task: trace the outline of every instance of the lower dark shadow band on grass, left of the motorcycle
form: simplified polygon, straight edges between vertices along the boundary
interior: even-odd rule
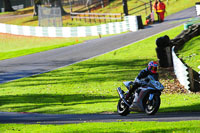
[[[44,111],[37,111],[38,113],[59,113],[67,111],[76,105],[95,105],[97,103],[109,103],[112,102],[114,96],[101,96],[101,95],[59,95],[59,94],[26,94],[26,95],[6,95],[0,96],[0,109],[11,109],[15,112],[29,112],[36,109],[44,109]],[[5,107],[6,106],[6,107]],[[7,107],[9,106],[9,107]],[[56,109],[56,106],[61,108]],[[45,109],[50,107],[51,110]],[[7,111],[8,111],[7,110]],[[81,110],[81,108],[80,108]],[[31,111],[31,112],[32,112]],[[74,110],[76,112],[77,110]],[[8,111],[9,112],[9,111]]]

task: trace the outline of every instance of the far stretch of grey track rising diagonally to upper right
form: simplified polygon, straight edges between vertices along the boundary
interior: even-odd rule
[[[183,24],[194,16],[196,10],[192,7],[167,17],[163,23],[154,24],[137,32],[90,40],[78,45],[0,61],[0,83],[48,72],[104,54]]]

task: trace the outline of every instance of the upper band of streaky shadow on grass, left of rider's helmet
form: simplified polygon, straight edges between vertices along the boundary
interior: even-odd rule
[[[6,86],[27,87],[134,80],[149,61],[149,59],[85,61],[42,75],[17,80],[13,84],[7,84]]]

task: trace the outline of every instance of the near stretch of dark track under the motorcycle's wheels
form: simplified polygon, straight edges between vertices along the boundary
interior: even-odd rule
[[[68,124],[84,122],[126,122],[126,121],[187,121],[200,120],[200,112],[157,113],[148,116],[144,113],[120,116],[118,114],[36,114],[0,112],[0,123],[24,124]]]

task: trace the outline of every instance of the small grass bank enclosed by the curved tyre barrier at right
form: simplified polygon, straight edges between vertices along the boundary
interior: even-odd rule
[[[179,58],[197,72],[199,71],[198,66],[200,65],[200,36],[192,38],[190,41],[185,43],[184,47],[179,50]]]

